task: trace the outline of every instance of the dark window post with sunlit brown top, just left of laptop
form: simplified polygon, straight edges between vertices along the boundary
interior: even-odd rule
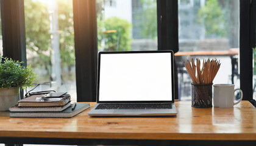
[[[96,0],[73,0],[77,102],[96,101]]]

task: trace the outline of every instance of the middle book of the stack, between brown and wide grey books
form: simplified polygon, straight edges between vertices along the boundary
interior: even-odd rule
[[[12,106],[9,108],[9,111],[11,112],[29,112],[29,111],[63,111],[64,109],[68,108],[71,105],[71,103],[66,103],[64,106]]]

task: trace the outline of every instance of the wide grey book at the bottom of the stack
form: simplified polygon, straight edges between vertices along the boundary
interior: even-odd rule
[[[85,109],[90,108],[89,103],[77,103],[76,108],[69,106],[60,112],[10,112],[10,117],[74,117]]]

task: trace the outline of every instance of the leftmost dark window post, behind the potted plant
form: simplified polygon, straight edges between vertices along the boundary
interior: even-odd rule
[[[23,61],[23,66],[27,66],[24,0],[0,2],[3,57]],[[24,97],[22,88],[20,97]]]

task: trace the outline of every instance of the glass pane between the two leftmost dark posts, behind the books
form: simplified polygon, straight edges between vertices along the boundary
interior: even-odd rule
[[[38,74],[38,90],[68,91],[76,101],[72,0],[24,0],[27,64]]]

